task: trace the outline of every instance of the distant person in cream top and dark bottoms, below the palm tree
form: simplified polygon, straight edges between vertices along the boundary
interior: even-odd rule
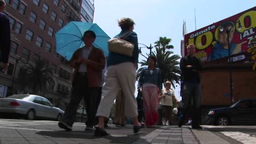
[[[165,88],[162,89],[160,98],[161,98],[161,105],[164,116],[162,118],[162,123],[164,125],[169,125],[172,120],[172,109],[173,109],[173,97],[174,91],[171,89],[171,82],[165,82]]]

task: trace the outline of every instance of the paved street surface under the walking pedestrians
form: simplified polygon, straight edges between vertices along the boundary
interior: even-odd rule
[[[143,128],[133,134],[132,125],[109,124],[110,136],[95,137],[85,124],[75,123],[73,131],[63,131],[55,121],[0,119],[0,143],[255,143],[256,126],[217,127],[202,125],[202,130],[183,126]]]

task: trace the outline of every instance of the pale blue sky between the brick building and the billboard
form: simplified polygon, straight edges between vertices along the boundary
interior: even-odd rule
[[[134,32],[138,35],[138,43],[149,46],[159,40],[159,37],[171,38],[172,50],[175,55],[181,55],[181,40],[183,39],[183,21],[187,23],[187,32],[211,25],[232,15],[238,14],[256,6],[255,0],[95,0],[94,23],[97,23],[109,37],[120,32],[118,19],[130,17],[135,21]],[[143,47],[143,45],[139,45]],[[154,51],[155,49],[153,49]],[[149,53],[142,49],[145,55]],[[144,59],[141,55],[139,61]],[[136,83],[137,85],[137,83]],[[177,99],[180,87],[174,89]],[[135,93],[137,95],[137,93]]]

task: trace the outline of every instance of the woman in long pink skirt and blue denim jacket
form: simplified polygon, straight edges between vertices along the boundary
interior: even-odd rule
[[[138,91],[142,87],[145,124],[151,127],[158,122],[158,95],[162,89],[161,70],[155,67],[156,59],[149,56],[148,68],[141,71],[138,81]]]

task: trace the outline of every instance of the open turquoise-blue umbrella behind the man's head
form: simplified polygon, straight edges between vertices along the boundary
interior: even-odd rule
[[[65,57],[68,61],[71,59],[75,50],[84,46],[83,34],[85,31],[94,31],[96,39],[93,43],[108,56],[108,43],[110,37],[96,24],[88,22],[69,22],[55,34],[56,52]]]

